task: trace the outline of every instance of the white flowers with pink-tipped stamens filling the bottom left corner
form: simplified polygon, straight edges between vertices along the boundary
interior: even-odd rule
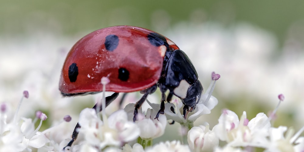
[[[27,91],[23,92],[24,97],[29,97]],[[22,97],[23,99],[23,97]],[[21,99],[21,101],[22,101]],[[47,116],[42,112],[36,115],[40,119],[39,126],[35,129],[32,119],[17,117],[21,102],[13,116],[13,119],[8,122],[7,114],[12,113],[11,108],[7,108],[6,103],[1,103],[0,111],[0,151],[32,151],[31,148],[41,148],[49,142],[47,137],[39,132],[42,121],[46,120]],[[38,119],[36,118],[36,119]],[[35,119],[35,120],[36,120]]]

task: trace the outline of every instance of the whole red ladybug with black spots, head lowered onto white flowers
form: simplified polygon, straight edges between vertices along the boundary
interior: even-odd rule
[[[156,118],[164,114],[164,102],[170,102],[173,95],[184,103],[185,116],[189,107],[190,111],[195,108],[203,91],[192,62],[177,45],[154,31],[134,26],[102,28],[81,38],[64,62],[59,90],[63,96],[98,93],[102,91],[102,77],[110,80],[106,91],[115,92],[106,97],[107,105],[120,92],[144,92],[135,105],[133,121],[157,87],[162,97]]]

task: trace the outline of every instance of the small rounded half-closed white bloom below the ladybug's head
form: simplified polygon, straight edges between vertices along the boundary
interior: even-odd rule
[[[219,145],[219,138],[209,130],[209,124],[192,127],[188,131],[188,144],[192,151],[213,151]]]

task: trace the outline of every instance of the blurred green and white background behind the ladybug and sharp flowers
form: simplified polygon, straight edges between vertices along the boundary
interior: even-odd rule
[[[104,27],[133,25],[157,31],[174,41],[192,60],[204,88],[211,72],[221,74],[213,95],[218,106],[195,125],[213,127],[224,108],[250,120],[277,112],[275,127],[298,130],[304,125],[304,1],[193,0],[193,1],[5,1],[0,5],[0,102],[16,108],[22,91],[21,116],[47,113],[44,128],[70,114],[64,136],[69,138],[79,112],[92,107],[101,94],[62,98],[60,70],[69,49],[84,35]],[[127,102],[136,102],[134,93]],[[159,94],[150,96],[157,102]],[[125,103],[127,104],[127,103]],[[107,112],[119,108],[113,103]],[[179,132],[172,125],[166,136]],[[43,129],[42,129],[43,130]],[[58,137],[60,138],[60,137]]]

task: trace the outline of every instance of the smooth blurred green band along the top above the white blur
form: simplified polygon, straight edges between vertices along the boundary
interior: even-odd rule
[[[166,30],[176,23],[193,20],[216,21],[227,26],[246,21],[273,32],[283,42],[288,28],[304,20],[303,8],[301,0],[2,0],[0,33],[19,35],[38,28],[73,35],[113,25],[152,30],[164,26],[162,30]],[[160,21],[164,25],[156,25]]]

